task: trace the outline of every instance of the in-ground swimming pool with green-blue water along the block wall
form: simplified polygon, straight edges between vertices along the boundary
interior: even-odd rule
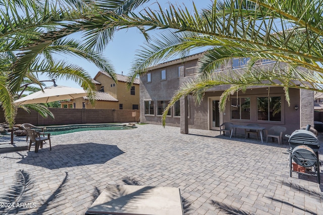
[[[86,130],[127,130],[136,128],[136,126],[127,126],[124,124],[71,124],[71,125],[50,125],[44,126],[45,132],[50,135],[59,135]]]

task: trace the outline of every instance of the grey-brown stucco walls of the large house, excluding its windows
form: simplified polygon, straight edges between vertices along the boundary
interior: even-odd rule
[[[152,124],[160,124],[160,116],[156,116],[156,102],[160,99],[170,100],[176,90],[179,87],[189,81],[190,79],[195,79],[196,76],[184,76],[184,73],[181,73],[180,78],[178,78],[178,66],[184,65],[185,68],[193,67],[196,65],[197,59],[189,60],[189,61],[176,61],[174,64],[165,63],[158,64],[157,69],[151,70],[151,83],[147,83],[147,75],[142,76],[140,79],[140,120],[142,122],[152,123]],[[268,68],[273,66],[271,64],[265,64]],[[160,70],[167,69],[167,81],[160,80]],[[188,127],[196,128],[196,129],[210,129],[210,114],[209,114],[209,99],[208,97],[220,97],[224,90],[228,89],[230,86],[221,85],[217,87],[213,87],[209,89],[202,100],[200,105],[195,105],[195,102],[191,96],[188,96],[188,109],[189,109],[189,118]],[[300,93],[301,92],[301,93]],[[299,129],[304,124],[311,124],[313,121],[313,94],[309,91],[302,92],[299,89],[289,89],[290,95],[290,106],[288,106],[288,102],[285,100],[284,90],[281,87],[253,87],[249,88],[244,94],[239,91],[238,97],[250,97],[250,120],[234,120],[231,119],[231,104],[230,101],[227,101],[226,111],[223,113],[222,122],[233,122],[234,124],[246,125],[249,123],[257,123],[267,129],[275,126],[285,126],[287,128],[286,133],[292,133],[294,130]],[[258,120],[258,111],[257,111],[257,96],[259,97],[281,97],[281,121],[264,121]],[[232,98],[236,98],[236,95],[233,95]],[[155,114],[145,115],[144,114],[144,101],[154,101],[155,105]],[[295,110],[295,106],[299,107],[298,110]],[[172,109],[173,111],[173,109]],[[183,105],[181,104],[181,115],[183,112]],[[305,113],[303,114],[303,111]],[[301,113],[302,112],[302,113]],[[222,113],[220,113],[222,114]],[[182,124],[184,120],[182,119]],[[180,124],[181,120],[178,117],[174,117],[173,112],[171,117],[167,117],[166,124],[170,126],[181,126],[182,130],[186,130]],[[239,131],[237,129],[237,133],[243,133],[244,130]]]

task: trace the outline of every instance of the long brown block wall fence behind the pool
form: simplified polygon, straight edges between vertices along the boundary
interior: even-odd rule
[[[90,124],[90,123],[127,123],[138,122],[139,110],[116,109],[69,109],[49,108],[55,116],[43,118],[37,112],[28,113],[18,109],[15,124],[31,123],[34,125],[65,125],[65,124]],[[5,122],[4,112],[0,111],[0,122]]]

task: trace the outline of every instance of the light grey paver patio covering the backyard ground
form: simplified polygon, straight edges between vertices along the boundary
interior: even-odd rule
[[[286,142],[189,132],[149,124],[81,131],[52,136],[52,151],[0,154],[0,206],[25,203],[0,213],[84,214],[107,184],[133,184],[179,187],[186,215],[323,214],[323,185],[289,177]],[[6,196],[21,190],[18,176],[28,183],[15,202]]]

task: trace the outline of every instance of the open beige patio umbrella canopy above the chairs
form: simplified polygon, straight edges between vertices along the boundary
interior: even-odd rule
[[[75,99],[86,96],[87,93],[82,89],[71,88],[66,86],[45,87],[43,91],[37,91],[28,96],[14,101],[15,105],[36,104],[55,102],[66,99]]]

